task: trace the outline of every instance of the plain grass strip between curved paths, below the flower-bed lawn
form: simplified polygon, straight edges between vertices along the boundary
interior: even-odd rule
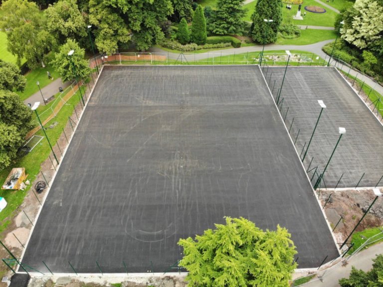
[[[275,44],[280,45],[307,45],[324,40],[335,39],[337,36],[334,30],[317,30],[317,29],[306,29],[301,30],[301,35],[295,39],[284,39],[278,37]]]

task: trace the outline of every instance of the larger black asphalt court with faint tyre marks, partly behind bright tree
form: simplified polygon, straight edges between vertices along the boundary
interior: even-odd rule
[[[287,227],[300,268],[338,256],[258,66],[105,66],[22,263],[165,272],[224,216]]]

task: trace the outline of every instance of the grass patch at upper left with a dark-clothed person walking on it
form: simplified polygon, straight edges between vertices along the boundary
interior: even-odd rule
[[[45,68],[39,66],[37,69],[28,72],[25,75],[26,78],[26,86],[23,92],[17,92],[17,94],[20,96],[22,100],[27,99],[32,94],[38,91],[38,86],[36,85],[36,82],[40,82],[40,88],[45,87],[46,85],[50,84],[52,81],[48,79],[48,75],[46,74],[47,71],[50,72],[52,77],[54,79],[57,79],[60,77],[58,72],[56,72],[52,65],[49,64],[49,62],[54,58],[54,54],[51,52],[47,55],[46,60],[44,61]],[[49,97],[51,95],[46,95],[46,97]]]

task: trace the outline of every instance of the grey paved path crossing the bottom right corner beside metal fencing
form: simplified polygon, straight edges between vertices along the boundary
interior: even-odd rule
[[[346,267],[342,265],[336,267],[334,270],[322,271],[319,273],[319,276],[323,276],[323,282],[320,280],[311,281],[305,285],[304,287],[339,287],[338,280],[341,278],[347,278],[350,275],[351,267],[355,266],[357,269],[362,269],[364,271],[368,271],[373,266],[373,261],[377,254],[383,253],[383,243],[374,245],[369,247],[355,257],[350,259],[349,264]]]

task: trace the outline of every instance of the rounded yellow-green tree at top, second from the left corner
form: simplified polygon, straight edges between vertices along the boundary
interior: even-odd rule
[[[66,38],[79,40],[86,37],[84,18],[75,0],[59,0],[44,11],[47,19],[46,29],[56,35],[60,44]]]

